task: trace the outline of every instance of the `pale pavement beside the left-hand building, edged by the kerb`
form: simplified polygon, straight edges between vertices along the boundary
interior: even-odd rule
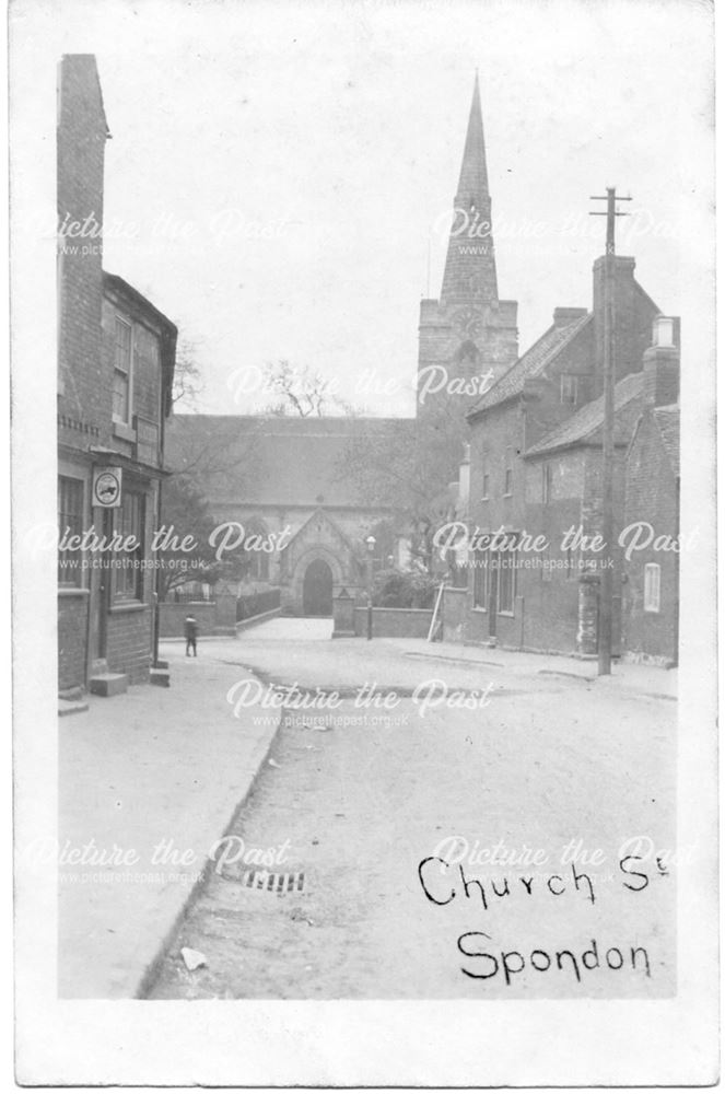
[[[219,649],[162,645],[169,688],[90,696],[59,721],[61,998],[137,996],[265,761],[279,712],[234,715]]]

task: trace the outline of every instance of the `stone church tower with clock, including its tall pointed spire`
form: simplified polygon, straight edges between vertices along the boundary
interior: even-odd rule
[[[421,397],[429,406],[441,398],[463,399],[467,409],[481,392],[476,389],[468,396],[455,385],[455,394],[446,395],[452,381],[471,380],[488,373],[492,375],[488,388],[514,363],[518,357],[516,310],[515,301],[499,299],[477,74],[441,296],[440,300],[422,300],[420,305],[419,411]],[[443,369],[447,375],[446,386],[442,386]],[[424,394],[426,388],[429,395]],[[438,394],[436,388],[440,388]]]

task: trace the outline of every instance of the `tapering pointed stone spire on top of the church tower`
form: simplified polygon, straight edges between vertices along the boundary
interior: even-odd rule
[[[468,117],[458,190],[448,241],[441,304],[443,307],[498,304],[495,257],[491,229],[491,196],[478,72]]]

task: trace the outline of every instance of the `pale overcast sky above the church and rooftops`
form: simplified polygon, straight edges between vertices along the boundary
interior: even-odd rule
[[[589,195],[617,185],[635,213],[618,251],[682,315],[683,366],[705,366],[706,5],[54,7],[16,7],[15,40],[31,28],[54,77],[61,53],[96,54],[113,133],[104,265],[196,344],[203,409],[259,409],[234,404],[230,375],[285,358],[372,412],[412,411],[419,301],[440,290],[477,67],[521,350],[554,306],[590,305],[604,220]],[[363,397],[369,370],[398,380],[397,398]]]

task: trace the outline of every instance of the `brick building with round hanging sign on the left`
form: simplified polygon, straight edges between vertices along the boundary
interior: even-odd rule
[[[108,137],[95,58],[65,56],[57,128],[61,691],[96,677],[100,689],[140,683],[152,655],[150,543],[176,327],[121,278],[103,271]],[[128,549],[103,550],[91,532],[107,542],[118,533]]]

